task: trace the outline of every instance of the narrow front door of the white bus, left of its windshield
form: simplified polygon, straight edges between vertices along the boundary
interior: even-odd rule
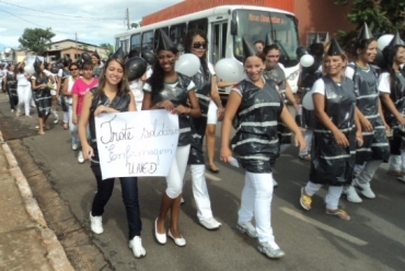
[[[228,20],[211,23],[210,61],[216,64],[227,55]]]

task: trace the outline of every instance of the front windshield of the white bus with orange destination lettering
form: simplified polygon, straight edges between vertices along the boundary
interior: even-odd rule
[[[235,10],[233,20],[236,22],[238,33],[233,36],[233,55],[242,61],[242,37],[252,44],[266,40],[267,34],[271,34],[273,40],[280,47],[280,54],[285,55],[280,62],[286,68],[298,64],[296,49],[299,46],[297,20],[294,16],[278,12],[257,10]]]

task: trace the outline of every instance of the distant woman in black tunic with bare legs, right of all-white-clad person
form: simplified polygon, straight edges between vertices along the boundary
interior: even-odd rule
[[[34,92],[34,101],[38,113],[38,134],[45,134],[44,128],[49,129],[46,123],[51,107],[50,87],[55,83],[54,76],[46,75],[44,71],[44,61],[36,58],[34,62],[35,73],[31,76],[31,84]],[[50,84],[49,84],[50,83]]]

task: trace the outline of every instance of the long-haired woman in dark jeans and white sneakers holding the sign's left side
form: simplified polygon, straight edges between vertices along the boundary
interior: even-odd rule
[[[129,90],[125,74],[124,56],[113,55],[106,62],[100,84],[90,90],[83,99],[81,117],[79,119],[79,137],[82,144],[84,158],[91,160],[91,168],[97,180],[97,192],[94,196],[92,211],[90,212],[91,229],[95,234],[103,233],[102,215],[113,193],[115,178],[104,179],[99,164],[99,150],[95,134],[94,116],[108,113],[135,111],[135,98]],[[88,143],[86,127],[90,126],[91,145]],[[129,248],[134,256],[146,256],[140,232],[142,223],[139,212],[138,179],[137,177],[119,178],[123,201],[127,212],[129,227]]]

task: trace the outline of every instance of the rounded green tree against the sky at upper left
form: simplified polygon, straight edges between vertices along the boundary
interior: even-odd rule
[[[22,47],[37,54],[44,55],[50,49],[51,38],[55,34],[50,28],[25,28],[23,35],[19,38]]]

